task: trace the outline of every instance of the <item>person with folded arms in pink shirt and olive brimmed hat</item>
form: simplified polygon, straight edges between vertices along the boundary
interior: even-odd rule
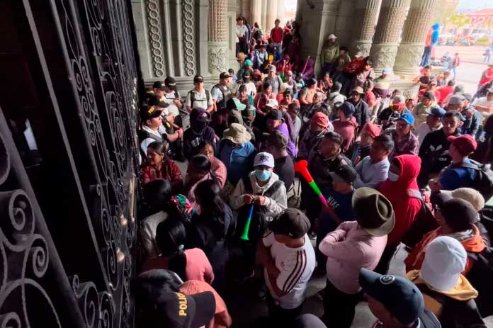
[[[322,321],[329,327],[351,327],[361,297],[361,268],[373,270],[395,225],[392,203],[372,188],[353,195],[356,221],[343,222],[319,244],[327,256],[327,286]]]

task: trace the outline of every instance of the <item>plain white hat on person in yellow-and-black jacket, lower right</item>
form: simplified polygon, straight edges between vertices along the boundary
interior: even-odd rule
[[[419,276],[434,289],[445,292],[458,283],[466,261],[467,253],[457,239],[436,237],[426,247]]]

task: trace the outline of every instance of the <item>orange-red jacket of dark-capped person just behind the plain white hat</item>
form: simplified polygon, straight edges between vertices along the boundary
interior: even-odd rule
[[[406,264],[406,271],[419,270],[421,268],[424,261],[426,247],[433,239],[441,235],[443,235],[443,233],[441,232],[440,227],[424,235],[421,242],[414,247],[411,253],[409,253],[407,258],[404,260],[404,263]],[[472,226],[472,230],[449,234],[448,236],[457,239],[460,244],[463,245],[465,251],[469,251],[471,253],[480,253],[486,247],[485,241],[481,237],[480,230],[478,230],[475,225]],[[463,274],[467,275],[472,268],[472,264],[474,264],[474,260],[467,256]]]

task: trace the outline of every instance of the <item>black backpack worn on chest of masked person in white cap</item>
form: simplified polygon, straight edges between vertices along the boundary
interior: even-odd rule
[[[249,176],[244,176],[242,178],[243,181],[243,186],[245,188],[246,193],[252,194],[253,189],[251,188],[251,182],[250,182],[250,177]],[[282,186],[284,183],[283,181],[276,181],[270,186],[265,193],[263,193],[262,196],[265,197],[271,197],[278,189],[280,186]],[[267,227],[267,220],[266,220],[266,213],[267,209],[265,206],[259,206],[255,205],[254,210],[251,214],[251,221],[250,221],[250,227],[248,231],[248,237],[249,241],[244,241],[244,239],[241,239],[240,237],[242,236],[244,232],[244,227],[246,225],[246,221],[248,220],[249,217],[249,212],[251,208],[251,204],[243,205],[242,208],[239,208],[238,214],[237,214],[237,230],[234,234],[234,239],[241,240],[244,242],[247,242],[249,244],[256,244],[256,242],[261,239],[263,236],[263,232],[265,232],[266,227]]]

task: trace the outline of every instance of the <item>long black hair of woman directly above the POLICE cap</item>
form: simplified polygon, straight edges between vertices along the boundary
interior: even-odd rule
[[[179,220],[168,218],[159,223],[156,228],[156,244],[162,257],[169,258],[169,269],[187,281],[186,277],[186,230]]]

